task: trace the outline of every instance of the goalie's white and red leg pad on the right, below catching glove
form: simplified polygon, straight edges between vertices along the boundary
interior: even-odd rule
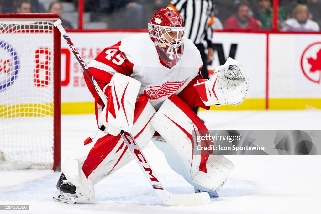
[[[164,138],[153,143],[164,152],[169,166],[199,190],[211,192],[225,183],[234,165],[221,155],[194,155],[192,132],[208,132],[202,121],[176,95],[165,100],[152,119],[153,128]],[[202,132],[204,134],[204,132]],[[201,142],[202,145],[204,142]]]

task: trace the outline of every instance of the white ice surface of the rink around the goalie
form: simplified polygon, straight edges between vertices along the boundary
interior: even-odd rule
[[[321,130],[321,111],[201,111],[209,130]],[[94,115],[62,116],[62,162],[96,130]],[[167,165],[152,143],[146,158],[172,193],[193,187]],[[162,204],[136,162],[95,185],[93,201],[75,205],[52,200],[60,173],[51,170],[0,171],[0,204],[26,205],[29,211],[0,213],[320,213],[320,155],[228,156],[235,169],[220,197],[201,206]]]

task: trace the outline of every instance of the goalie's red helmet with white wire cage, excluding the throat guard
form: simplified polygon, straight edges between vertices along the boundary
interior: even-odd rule
[[[183,41],[185,25],[183,18],[173,8],[161,8],[148,23],[148,33],[155,43],[164,43],[177,49]]]

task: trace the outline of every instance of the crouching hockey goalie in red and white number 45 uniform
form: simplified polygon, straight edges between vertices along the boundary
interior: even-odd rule
[[[142,149],[152,141],[195,193],[218,197],[216,190],[226,183],[234,165],[221,155],[195,154],[192,132],[208,131],[191,107],[239,105],[248,80],[231,58],[211,79],[203,79],[200,53],[184,38],[184,30],[182,17],[172,8],[162,8],[149,22],[148,33],[122,39],[88,64],[108,101],[104,105],[85,75],[99,129],[65,160],[54,200],[93,200],[94,184],[133,159],[121,130],[131,133]]]

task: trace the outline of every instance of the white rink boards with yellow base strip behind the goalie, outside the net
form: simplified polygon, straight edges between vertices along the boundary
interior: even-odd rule
[[[135,31],[73,31],[68,35],[86,63],[105,47]],[[90,41],[90,42],[88,42]],[[231,56],[238,60],[250,82],[239,106],[213,110],[321,109],[321,40],[313,33],[215,32],[214,61],[209,72]],[[93,113],[93,98],[82,69],[62,38],[62,114]]]

